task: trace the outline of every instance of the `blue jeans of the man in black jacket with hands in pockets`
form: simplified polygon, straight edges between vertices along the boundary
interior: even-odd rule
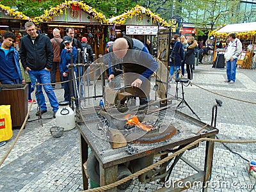
[[[56,98],[56,95],[54,91],[52,90],[51,84],[45,84],[45,83],[51,83],[51,77],[49,70],[28,70],[29,77],[31,79],[31,83],[33,85],[33,88],[35,89],[36,81],[37,83],[44,84],[44,90],[47,94],[47,97],[50,101],[52,111],[58,111],[59,109],[59,103]],[[38,85],[36,89],[36,100],[37,103],[40,106],[40,110],[47,110],[46,104],[45,104],[45,97],[42,90],[42,85]]]

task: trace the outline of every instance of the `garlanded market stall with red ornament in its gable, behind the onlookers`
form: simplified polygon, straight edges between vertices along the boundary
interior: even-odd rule
[[[45,10],[40,17],[35,17],[33,22],[40,26],[45,35],[52,38],[52,30],[58,28],[61,37],[66,35],[66,28],[75,29],[75,38],[81,40],[88,38],[88,44],[92,45],[93,52],[98,58],[104,54],[104,38],[106,37],[107,22],[105,15],[97,12],[92,7],[78,1],[65,1],[50,10]]]

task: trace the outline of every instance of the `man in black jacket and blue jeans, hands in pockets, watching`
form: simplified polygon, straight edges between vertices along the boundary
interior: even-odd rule
[[[36,32],[33,22],[26,22],[25,29],[28,35],[20,39],[20,61],[25,70],[28,71],[33,88],[36,82],[44,84],[44,90],[50,101],[55,118],[59,104],[54,91],[52,90],[50,70],[52,68],[53,51],[50,38]],[[36,116],[47,112],[45,97],[42,91],[42,85],[37,86],[36,100],[40,106],[40,111]]]

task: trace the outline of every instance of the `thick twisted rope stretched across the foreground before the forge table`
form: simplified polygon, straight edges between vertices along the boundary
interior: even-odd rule
[[[181,148],[180,150],[177,150],[177,152],[174,152],[172,155],[170,155],[168,157],[165,157],[164,159],[162,159],[160,161],[157,161],[156,163],[151,164],[147,168],[143,168],[139,172],[133,173],[132,175],[129,175],[128,177],[125,177],[124,179],[113,182],[112,184],[108,184],[107,186],[102,186],[102,187],[94,188],[94,189],[88,189],[88,190],[85,190],[85,191],[96,192],[96,191],[106,191],[108,189],[115,188],[116,186],[119,186],[120,184],[123,184],[124,182],[127,182],[128,180],[131,180],[134,177],[138,177],[139,175],[141,175],[143,173],[146,173],[146,172],[148,172],[148,171],[150,171],[154,168],[157,168],[157,166],[160,166],[161,164],[166,163],[167,161],[170,161],[171,159],[173,159],[173,157],[179,156],[180,154],[182,154],[183,152],[185,152],[189,148],[195,146],[196,144],[198,144],[202,141],[218,142],[218,143],[256,143],[256,140],[234,141],[234,140],[217,140],[217,139],[211,139],[211,138],[200,138],[196,141],[193,141],[192,143],[190,143],[186,147]]]

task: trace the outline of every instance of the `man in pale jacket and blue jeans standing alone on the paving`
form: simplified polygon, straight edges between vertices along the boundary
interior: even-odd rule
[[[230,42],[224,54],[227,68],[227,83],[235,83],[236,81],[236,62],[239,54],[242,52],[242,43],[236,38],[235,33],[229,35]]]

